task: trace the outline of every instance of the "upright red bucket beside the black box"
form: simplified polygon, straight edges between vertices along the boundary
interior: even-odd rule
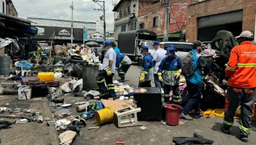
[[[165,120],[168,125],[179,125],[180,109],[181,106],[176,104],[166,104],[164,106],[165,111]]]

